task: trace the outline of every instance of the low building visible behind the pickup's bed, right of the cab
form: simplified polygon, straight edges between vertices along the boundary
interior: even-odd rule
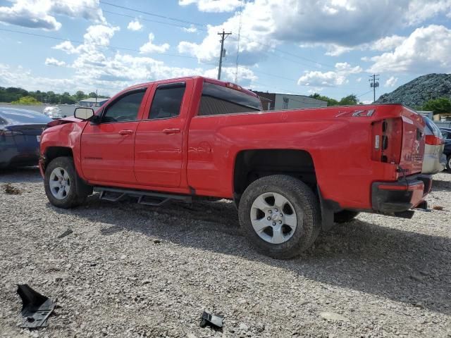
[[[296,108],[316,108],[327,107],[327,102],[306,95],[278,94],[268,92],[257,92],[260,96],[261,105],[264,111],[276,111],[279,109],[296,109]]]

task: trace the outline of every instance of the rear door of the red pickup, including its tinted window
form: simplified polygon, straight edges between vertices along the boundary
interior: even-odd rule
[[[192,89],[192,81],[154,84],[136,131],[135,175],[139,184],[180,187]]]

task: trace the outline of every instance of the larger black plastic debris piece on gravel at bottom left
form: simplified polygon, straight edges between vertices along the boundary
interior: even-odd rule
[[[18,284],[17,293],[22,299],[23,323],[20,327],[46,327],[47,318],[54,311],[55,303],[39,292],[35,292],[28,284]]]

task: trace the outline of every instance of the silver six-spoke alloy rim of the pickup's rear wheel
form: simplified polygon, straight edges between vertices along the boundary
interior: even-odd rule
[[[255,199],[251,208],[254,231],[271,244],[287,242],[295,233],[297,215],[288,199],[276,192],[265,192]]]

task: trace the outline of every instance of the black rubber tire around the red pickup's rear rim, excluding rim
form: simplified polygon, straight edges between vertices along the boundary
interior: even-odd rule
[[[280,244],[266,242],[252,226],[252,204],[257,197],[267,192],[283,195],[290,201],[297,216],[297,226],[292,236]],[[288,175],[266,176],[249,184],[241,196],[238,215],[247,239],[257,251],[278,259],[298,256],[314,243],[321,230],[321,211],[317,197],[307,184]]]

